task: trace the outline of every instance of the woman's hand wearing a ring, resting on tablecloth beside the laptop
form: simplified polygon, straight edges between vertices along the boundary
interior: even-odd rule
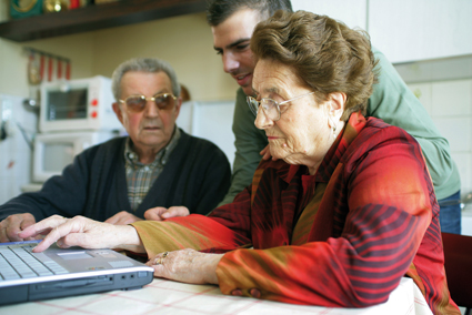
[[[187,248],[158,254],[147,264],[154,268],[154,276],[158,277],[193,284],[218,284],[217,265],[222,256]]]

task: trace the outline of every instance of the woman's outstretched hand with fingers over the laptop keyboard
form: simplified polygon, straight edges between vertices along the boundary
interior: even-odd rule
[[[80,246],[83,248],[124,248],[143,253],[144,247],[138,232],[130,225],[112,225],[83,216],[66,219],[52,215],[28,226],[18,235],[21,238],[48,234],[33,252],[39,253],[57,242],[59,247]]]

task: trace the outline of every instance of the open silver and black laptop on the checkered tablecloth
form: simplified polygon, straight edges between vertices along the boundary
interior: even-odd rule
[[[40,241],[0,244],[0,305],[71,295],[134,289],[154,270],[112,250],[31,250]]]

